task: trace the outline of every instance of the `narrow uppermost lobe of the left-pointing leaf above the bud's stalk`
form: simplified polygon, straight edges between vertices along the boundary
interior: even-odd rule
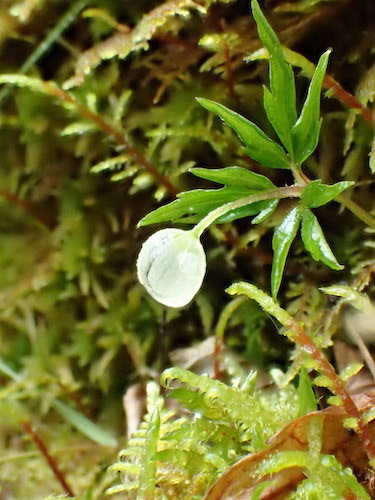
[[[242,167],[226,168],[192,168],[190,172],[196,177],[224,184],[249,189],[275,189],[275,185],[264,175],[256,174]]]

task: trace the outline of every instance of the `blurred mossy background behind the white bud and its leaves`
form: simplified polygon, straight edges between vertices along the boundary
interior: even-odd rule
[[[373,2],[277,0],[263,7],[297,53],[297,107],[308,61],[332,47],[328,73],[355,99],[331,82],[306,171],[329,184],[355,181],[350,197],[374,211]],[[244,155],[232,130],[194,99],[219,101],[275,137],[262,106],[267,65],[253,55],[260,47],[242,0],[2,2],[0,82],[16,84],[0,89],[3,498],[62,493],[25,422],[48,444],[77,497],[101,498],[113,481],[106,468],[125,443],[127,388],[157,378],[171,364],[171,349],[213,333],[233,280],[270,289],[268,229],[290,201],[257,226],[244,219],[212,228],[208,275],[187,309],[164,310],[135,275],[150,234],[138,221],[177,192],[213,187],[190,168],[240,166],[276,185],[290,183],[289,173],[270,173]],[[312,261],[296,240],[279,300],[328,345],[340,316],[318,288],[340,281],[371,297],[374,242],[338,204],[316,212],[345,270]],[[299,353],[274,337],[267,315],[239,304],[226,331],[237,369],[256,363],[286,370],[291,355],[292,378]]]

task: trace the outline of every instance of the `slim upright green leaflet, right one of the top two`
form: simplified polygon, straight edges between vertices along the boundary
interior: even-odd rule
[[[319,59],[300,117],[292,129],[294,159],[297,165],[303,163],[318,145],[321,124],[320,94],[330,52],[327,50]]]

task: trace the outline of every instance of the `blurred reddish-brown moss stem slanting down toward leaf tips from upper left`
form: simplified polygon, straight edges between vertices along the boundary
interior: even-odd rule
[[[155,165],[153,165],[135,146],[130,144],[121,130],[116,129],[112,124],[104,120],[100,115],[91,111],[79,101],[77,101],[71,94],[60,89],[56,85],[49,82],[44,82],[44,88],[48,94],[57,97],[60,101],[73,105],[76,110],[85,118],[95,123],[96,126],[106,135],[112,137],[114,141],[128,152],[134,160],[141,165],[160,185],[163,186],[168,194],[176,196],[177,189],[173,186],[170,180],[161,174]]]

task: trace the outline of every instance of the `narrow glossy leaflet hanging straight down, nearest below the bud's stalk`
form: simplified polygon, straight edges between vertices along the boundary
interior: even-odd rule
[[[281,224],[277,226],[273,234],[272,248],[274,257],[271,271],[271,290],[274,298],[277,297],[277,292],[281,285],[285,261],[290,245],[297,235],[302,215],[301,212],[300,206],[293,208],[293,210],[283,219]]]

